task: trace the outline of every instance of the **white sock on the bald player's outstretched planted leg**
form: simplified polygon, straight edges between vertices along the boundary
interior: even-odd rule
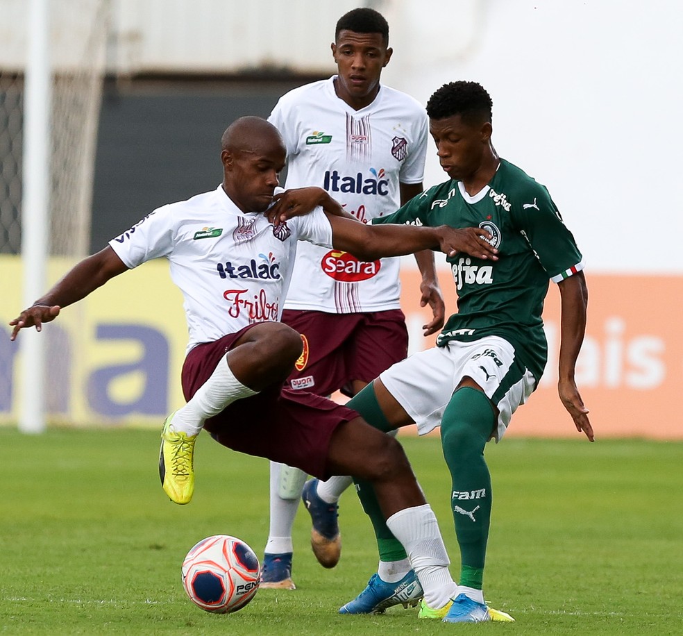
[[[432,609],[443,608],[453,598],[457,584],[448,571],[448,554],[437,518],[428,503],[404,508],[387,519],[387,526],[408,555],[410,564]]]

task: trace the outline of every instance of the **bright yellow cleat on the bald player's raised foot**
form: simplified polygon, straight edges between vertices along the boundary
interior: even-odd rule
[[[194,494],[194,442],[196,435],[176,433],[171,426],[171,413],[164,422],[159,452],[159,476],[171,501],[184,505]]]

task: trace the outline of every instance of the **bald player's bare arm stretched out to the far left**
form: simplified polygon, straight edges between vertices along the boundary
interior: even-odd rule
[[[47,294],[41,296],[31,307],[22,311],[10,326],[14,327],[10,340],[15,340],[19,330],[35,326],[42,330],[44,322],[58,317],[60,309],[85,298],[90,292],[104,285],[110,278],[126,271],[117,253],[107,246],[75,265]]]

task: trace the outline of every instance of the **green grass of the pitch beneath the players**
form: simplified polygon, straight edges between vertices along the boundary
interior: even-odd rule
[[[458,572],[438,438],[402,437]],[[416,610],[344,617],[376,549],[353,493],[342,499],[342,562],[319,567],[296,520],[295,592],[261,590],[244,610],[207,614],[185,597],[180,562],[226,533],[259,557],[268,467],[203,435],[194,501],[165,498],[151,430],[0,428],[0,632],[7,634],[421,635],[683,634],[683,444],[505,440],[494,481],[487,599],[515,624],[417,621]]]

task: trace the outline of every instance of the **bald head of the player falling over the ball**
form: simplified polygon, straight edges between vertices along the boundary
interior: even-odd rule
[[[285,167],[285,142],[260,117],[240,117],[221,137],[223,189],[242,212],[263,212]]]

